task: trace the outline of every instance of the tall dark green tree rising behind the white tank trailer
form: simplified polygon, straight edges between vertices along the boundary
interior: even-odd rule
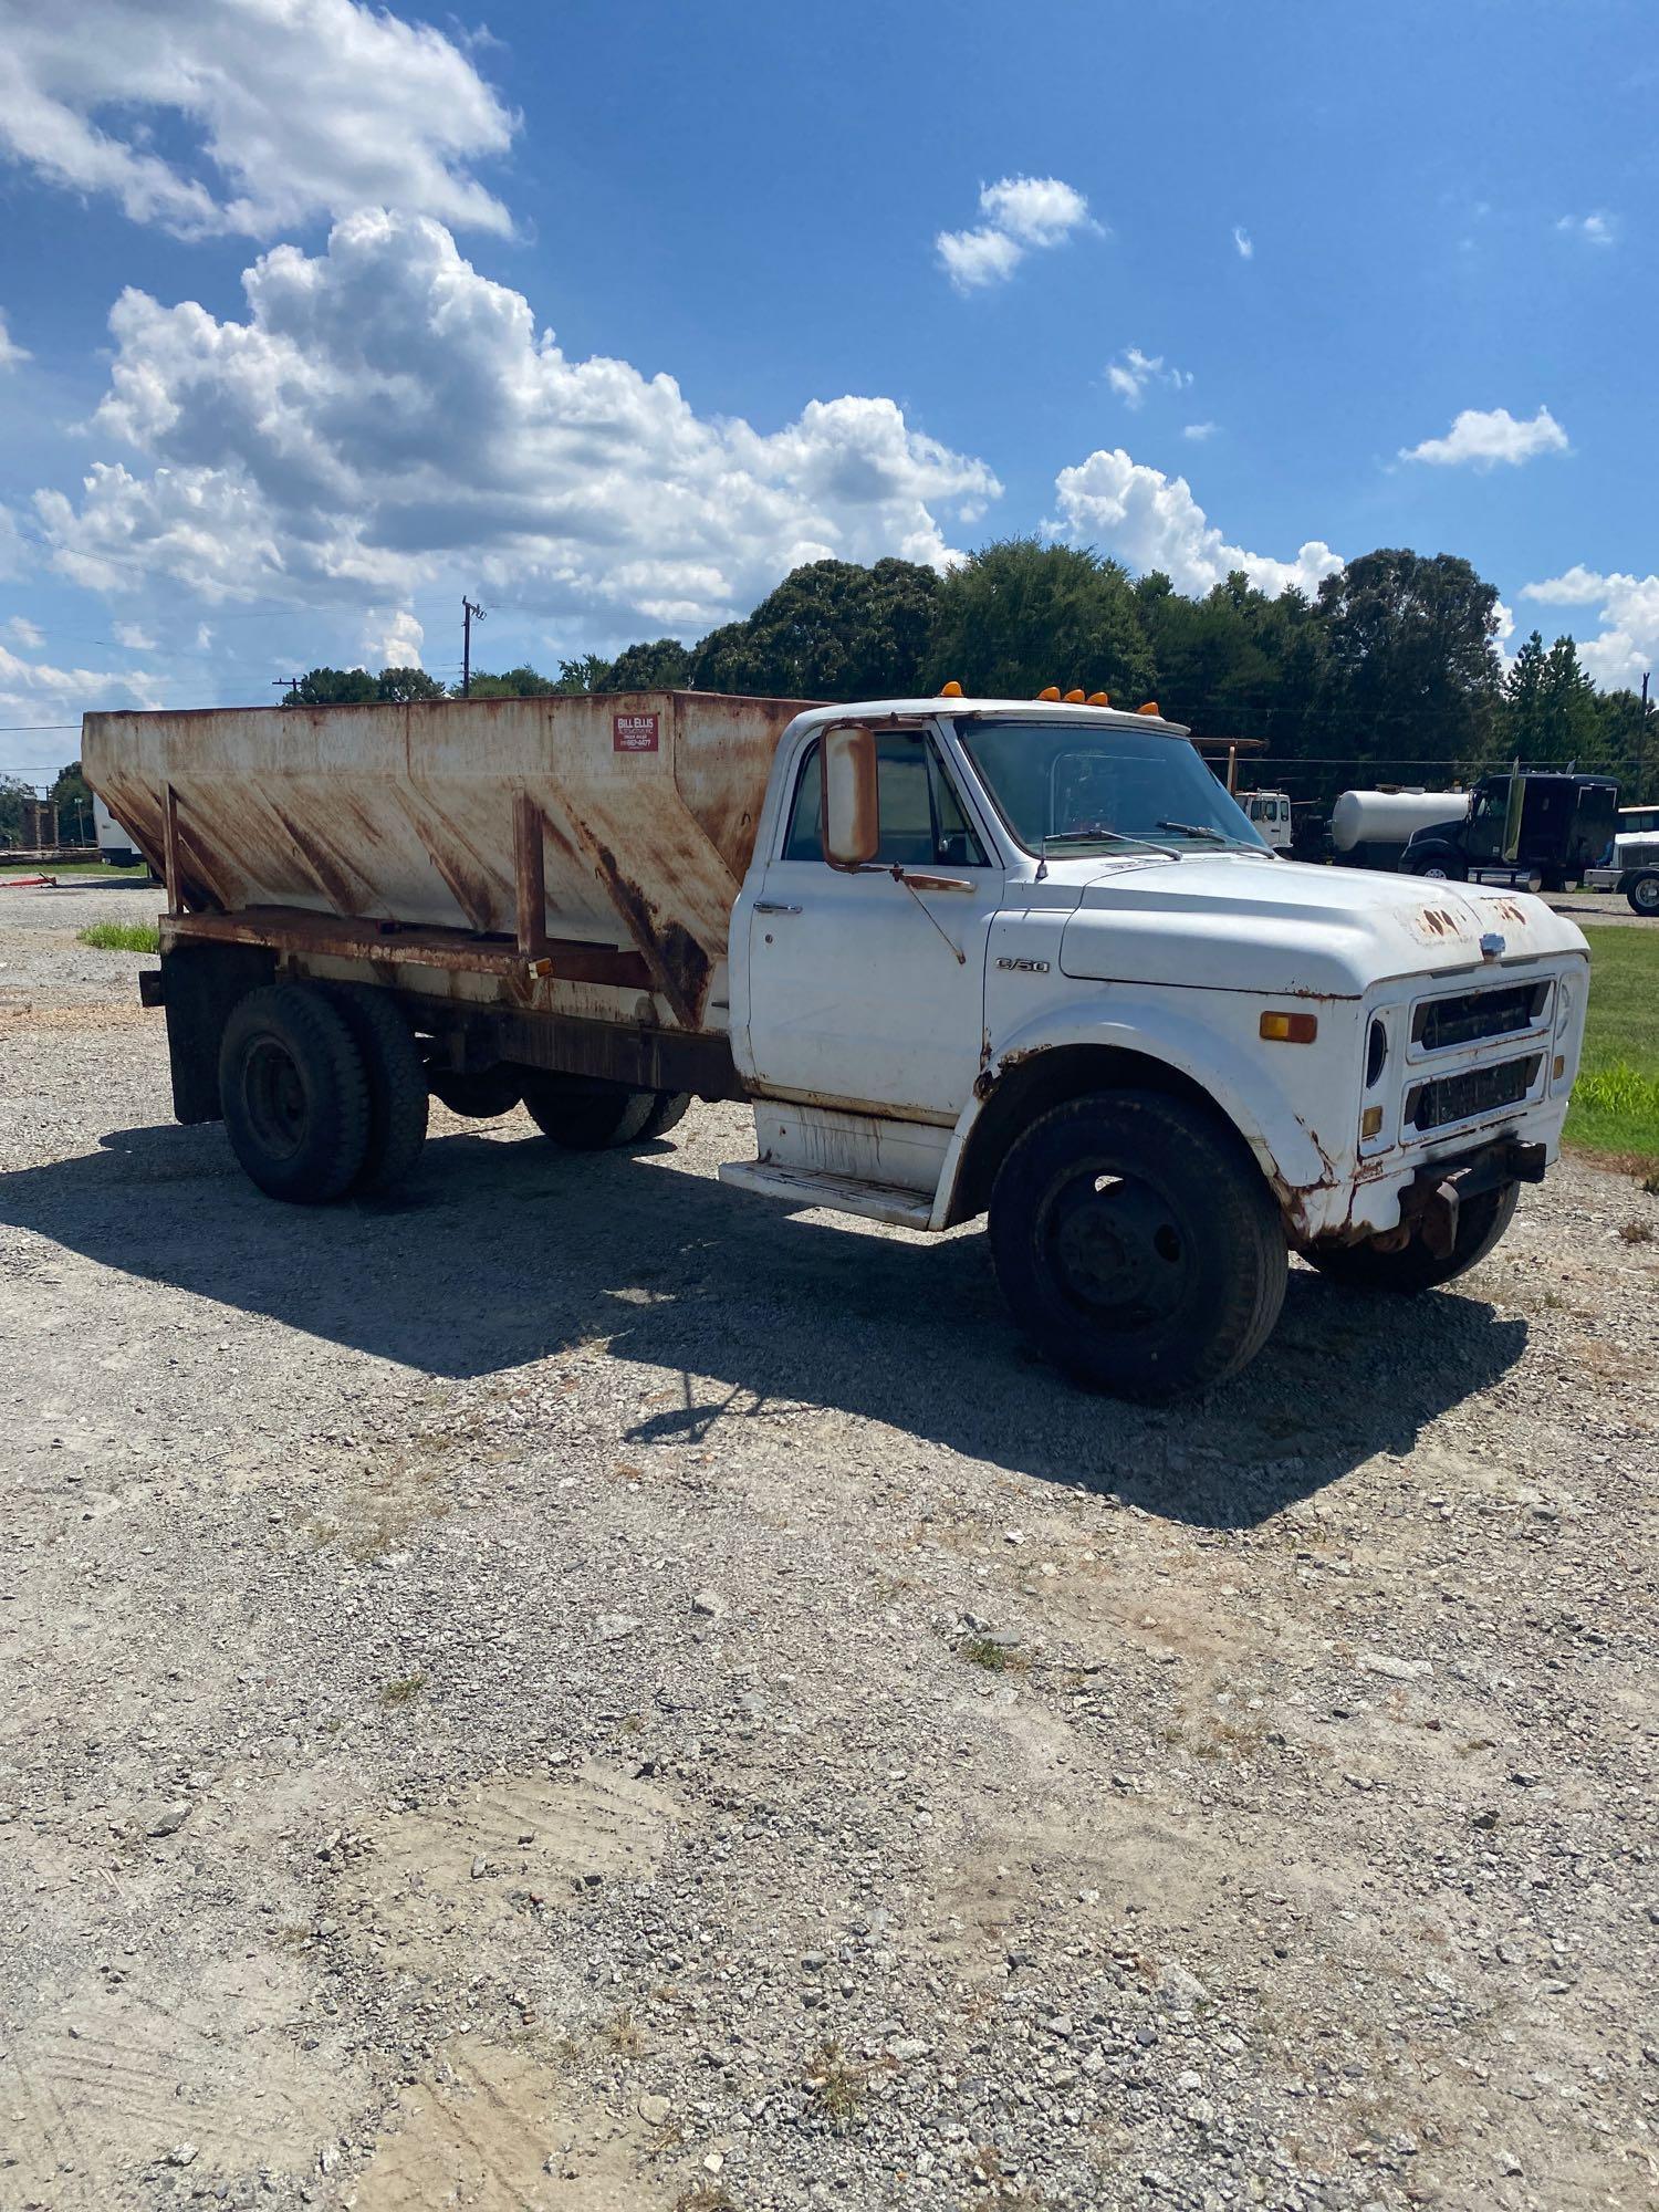
[[[1455,553],[1363,553],[1318,586],[1329,710],[1367,761],[1480,761],[1498,723],[1498,591]]]

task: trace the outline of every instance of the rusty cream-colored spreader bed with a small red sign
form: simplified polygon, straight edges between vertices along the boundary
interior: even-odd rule
[[[522,1011],[699,1031],[726,1026],[730,909],[803,703],[88,714],[82,761],[164,872],[175,938],[394,962],[453,998],[509,978]]]

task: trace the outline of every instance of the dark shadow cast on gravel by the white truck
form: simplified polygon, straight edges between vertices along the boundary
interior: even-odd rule
[[[830,1223],[675,1172],[675,1157],[436,1137],[407,1194],[285,1208],[217,1126],[135,1128],[0,1177],[0,1221],[434,1378],[606,1345],[679,1394],[619,1442],[703,1451],[765,1420],[787,1449],[781,1416],[825,1407],[1208,1528],[1254,1526],[1374,1453],[1409,1453],[1526,1347],[1526,1323],[1478,1296],[1338,1292],[1294,1267],[1237,1383],[1128,1407],[1018,1338],[978,1230]]]

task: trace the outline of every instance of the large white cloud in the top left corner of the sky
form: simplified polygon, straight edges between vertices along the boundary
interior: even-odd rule
[[[515,117],[442,31],[358,0],[0,0],[0,150],[181,237],[369,201],[509,230]],[[192,150],[164,157],[150,117]]]

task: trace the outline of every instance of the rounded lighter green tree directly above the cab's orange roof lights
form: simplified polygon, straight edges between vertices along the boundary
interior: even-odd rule
[[[1106,690],[1139,706],[1155,688],[1141,606],[1115,560],[1037,538],[971,553],[936,588],[936,688],[951,677],[978,697],[1031,699],[1048,684]]]

